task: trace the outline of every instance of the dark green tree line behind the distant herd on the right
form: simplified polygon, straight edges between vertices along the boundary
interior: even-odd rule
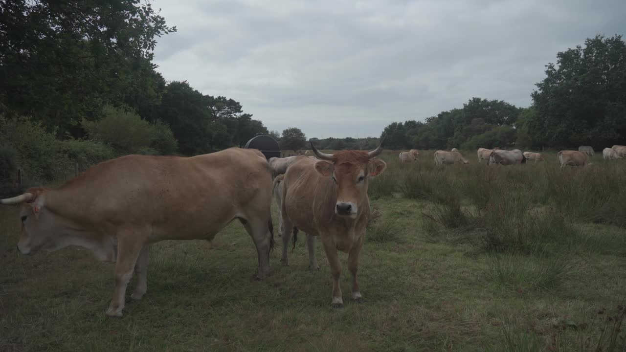
[[[463,108],[425,122],[384,128],[394,149],[511,148],[541,150],[626,144],[626,43],[621,35],[587,38],[557,53],[531,93],[532,105],[471,98]]]

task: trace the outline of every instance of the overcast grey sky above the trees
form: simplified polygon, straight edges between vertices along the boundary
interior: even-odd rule
[[[626,34],[626,0],[153,0],[157,68],[270,130],[379,137],[471,97],[529,106],[558,51]]]

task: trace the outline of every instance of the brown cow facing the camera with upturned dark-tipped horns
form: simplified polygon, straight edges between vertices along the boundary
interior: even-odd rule
[[[348,269],[352,274],[352,299],[361,302],[357,268],[370,216],[368,179],[380,175],[387,164],[375,158],[382,152],[382,141],[372,152],[342,150],[326,154],[317,150],[312,142],[311,147],[321,160],[297,160],[285,173],[281,260],[285,265],[289,264],[287,234],[293,231],[294,241],[296,229],[304,230],[312,236],[320,236],[332,273],[331,305],[340,308],[343,306],[343,299],[339,286],[341,264],[337,250],[348,254]],[[309,247],[309,255],[312,252],[312,247]]]

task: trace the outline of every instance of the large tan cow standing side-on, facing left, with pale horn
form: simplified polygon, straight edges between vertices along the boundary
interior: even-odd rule
[[[308,159],[308,158],[307,158]],[[259,150],[229,148],[195,157],[126,155],[99,163],[57,188],[31,188],[0,204],[22,204],[18,249],[23,254],[67,246],[115,261],[115,291],[106,311],[121,316],[126,286],[146,293],[148,245],[163,240],[212,240],[239,219],[259,256],[258,279],[269,274],[272,175]]]

